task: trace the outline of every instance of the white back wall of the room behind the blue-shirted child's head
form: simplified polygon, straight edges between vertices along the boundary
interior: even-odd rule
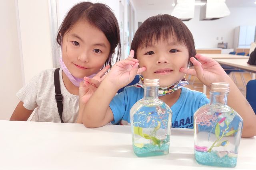
[[[216,48],[221,41],[228,42],[233,48],[234,29],[239,25],[256,25],[256,8],[229,8],[230,16],[213,21],[199,21],[200,8],[195,8],[194,18],[184,21],[194,36],[196,48]],[[157,14],[171,14],[167,10],[138,10],[138,21],[145,21]],[[218,40],[216,39],[218,37]],[[220,38],[223,37],[223,40]]]

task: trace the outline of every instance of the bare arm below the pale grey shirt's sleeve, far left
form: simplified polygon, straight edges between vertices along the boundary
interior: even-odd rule
[[[23,102],[20,101],[19,104],[16,106],[14,112],[12,113],[10,120],[27,121],[33,111],[34,110],[26,109],[23,106]]]

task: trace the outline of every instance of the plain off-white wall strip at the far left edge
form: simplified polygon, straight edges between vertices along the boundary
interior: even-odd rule
[[[0,120],[8,120],[19,102],[16,92],[22,87],[22,68],[15,0],[0,0],[0,3]]]

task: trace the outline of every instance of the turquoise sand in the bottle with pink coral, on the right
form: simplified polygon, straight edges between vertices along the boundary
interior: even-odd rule
[[[199,164],[222,167],[235,167],[237,158],[229,157],[228,155],[220,158],[216,151],[198,152],[195,150],[195,158]]]

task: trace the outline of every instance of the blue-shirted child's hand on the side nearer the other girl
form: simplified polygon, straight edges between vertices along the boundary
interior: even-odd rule
[[[136,74],[146,70],[146,67],[138,68],[139,61],[134,59],[133,56],[134,51],[131,50],[127,59],[117,62],[111,68],[106,80],[113,85],[113,88],[118,90],[126,86],[134,80]]]

